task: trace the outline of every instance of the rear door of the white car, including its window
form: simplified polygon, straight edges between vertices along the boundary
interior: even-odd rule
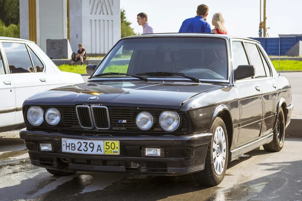
[[[35,63],[35,59],[32,59],[30,50],[25,43],[12,41],[3,42],[2,44],[10,75],[15,83],[16,107],[22,108],[28,97],[48,89],[45,73],[43,73],[44,69],[42,69],[42,72],[37,72],[37,65],[39,64]],[[17,111],[15,123],[23,122],[22,111]]]

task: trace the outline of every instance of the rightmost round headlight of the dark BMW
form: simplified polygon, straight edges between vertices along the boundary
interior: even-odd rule
[[[176,112],[164,111],[160,116],[160,126],[165,131],[175,131],[180,125],[180,117]]]

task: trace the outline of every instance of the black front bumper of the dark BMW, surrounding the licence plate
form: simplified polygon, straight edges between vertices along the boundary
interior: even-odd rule
[[[182,175],[204,169],[211,133],[191,136],[84,136],[40,131],[20,131],[33,165],[64,171],[131,172],[132,174]],[[62,152],[61,139],[120,142],[119,155],[88,155]],[[39,143],[51,143],[52,152]],[[142,147],[164,148],[164,157],[143,157]]]

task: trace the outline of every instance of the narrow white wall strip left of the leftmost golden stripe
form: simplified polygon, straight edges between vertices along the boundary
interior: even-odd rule
[[[29,40],[28,0],[19,0],[20,4],[20,38]]]

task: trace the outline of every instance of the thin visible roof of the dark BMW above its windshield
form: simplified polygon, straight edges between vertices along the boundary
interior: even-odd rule
[[[249,40],[256,43],[260,43],[254,39],[240,37],[240,36],[232,36],[232,35],[225,35],[225,34],[214,34],[214,33],[154,33],[154,34],[142,34],[142,35],[134,35],[128,36],[125,38],[149,38],[149,37],[212,37],[212,38],[225,38],[225,39],[243,39]]]

